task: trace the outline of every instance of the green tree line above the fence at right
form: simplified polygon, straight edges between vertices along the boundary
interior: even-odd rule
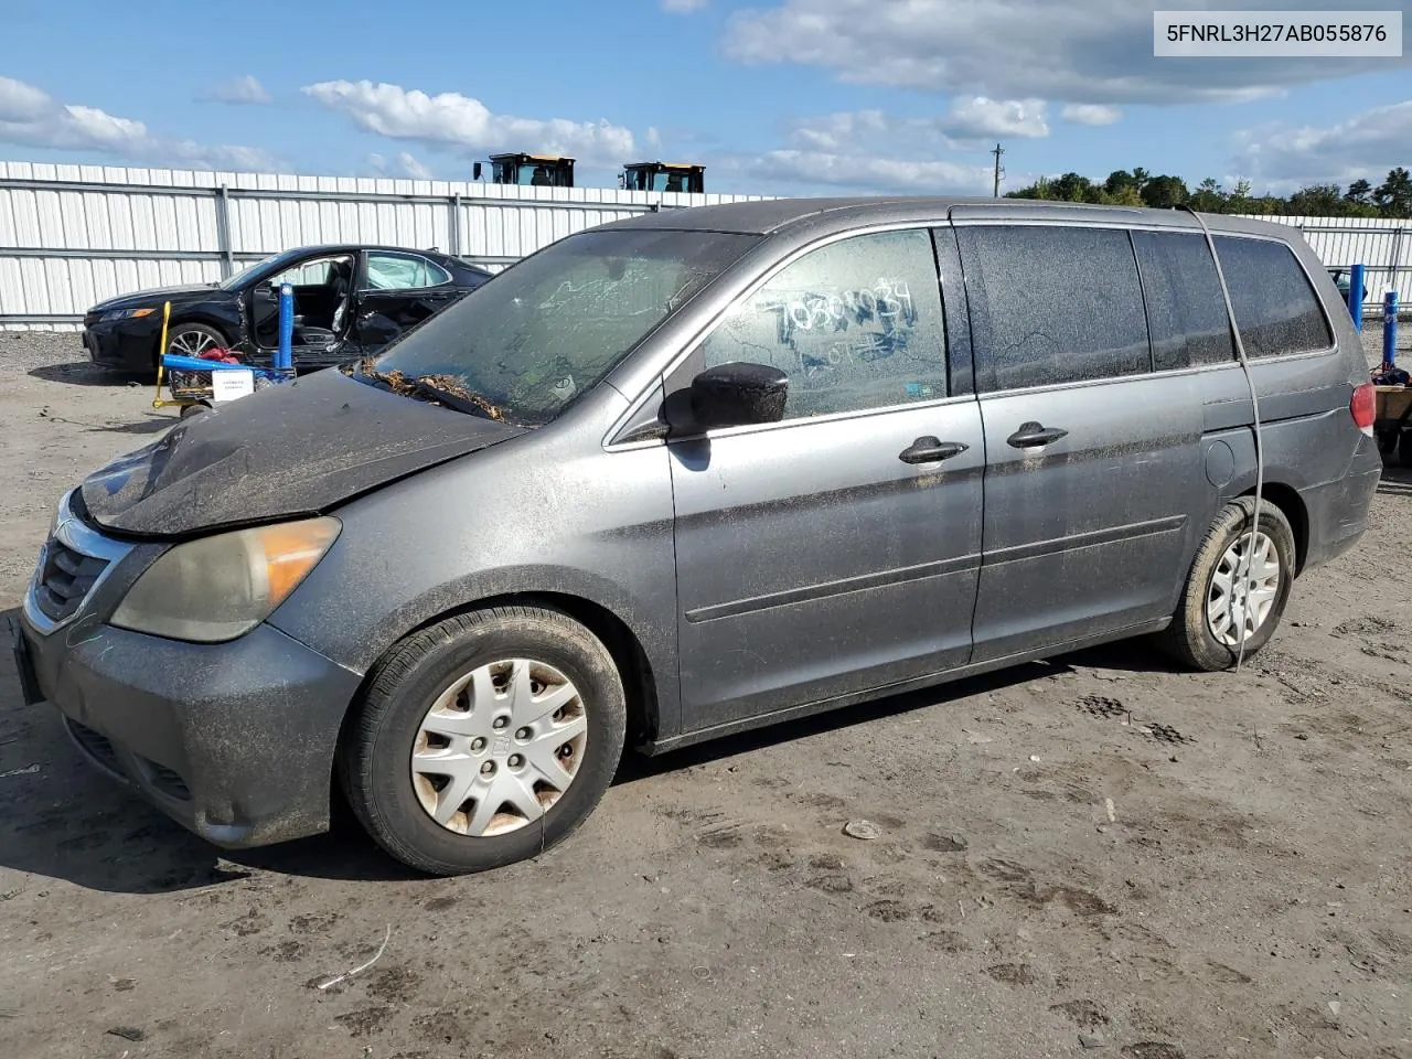
[[[1412,174],[1401,165],[1374,186],[1354,181],[1347,191],[1337,184],[1312,184],[1288,198],[1251,195],[1250,181],[1227,191],[1207,176],[1196,189],[1180,176],[1155,176],[1147,169],[1117,169],[1106,181],[1091,181],[1076,172],[1041,176],[1028,188],[1005,192],[1007,199],[1051,202],[1094,202],[1111,206],[1172,209],[1190,206],[1203,213],[1260,213],[1289,217],[1412,217]]]

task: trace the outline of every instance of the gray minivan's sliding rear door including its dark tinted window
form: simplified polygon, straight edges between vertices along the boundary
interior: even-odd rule
[[[1152,371],[1128,232],[957,237],[986,431],[974,661],[1171,614],[1206,504],[1202,401],[1190,371]]]

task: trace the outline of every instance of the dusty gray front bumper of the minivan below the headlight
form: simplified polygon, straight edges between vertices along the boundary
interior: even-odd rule
[[[103,624],[136,578],[123,568],[150,559],[137,549],[116,559],[113,578],[56,626],[32,606],[31,585],[16,644],[27,703],[52,703],[92,764],[217,846],[328,830],[333,753],[359,675],[271,626],[188,644]]]

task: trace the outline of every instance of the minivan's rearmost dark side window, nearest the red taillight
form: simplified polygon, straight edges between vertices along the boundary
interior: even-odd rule
[[[1248,356],[1279,357],[1333,345],[1319,298],[1288,246],[1216,236],[1216,251]]]

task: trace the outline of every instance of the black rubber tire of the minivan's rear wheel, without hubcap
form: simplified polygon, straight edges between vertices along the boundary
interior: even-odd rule
[[[1211,633],[1206,618],[1206,604],[1211,590],[1211,579],[1221,556],[1240,537],[1250,532],[1254,514],[1254,497],[1240,497],[1221,508],[1196,549],[1192,569],[1186,575],[1186,585],[1182,587],[1182,597],[1172,614],[1172,624],[1161,637],[1161,642],[1169,654],[1195,669],[1216,672],[1236,665],[1238,648],[1220,642]],[[1245,658],[1255,655],[1275,634],[1295,582],[1295,534],[1285,513],[1268,500],[1260,505],[1258,531],[1274,542],[1279,556],[1281,575],[1269,614],[1254,635],[1245,641]]]

